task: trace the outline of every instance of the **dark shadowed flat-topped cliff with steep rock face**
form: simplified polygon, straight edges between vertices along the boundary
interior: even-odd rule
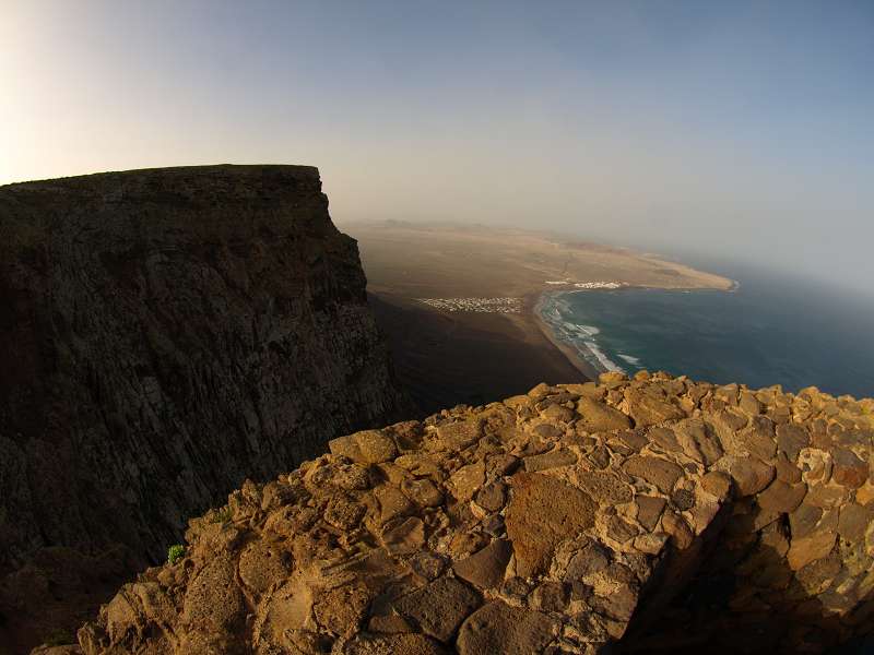
[[[10,630],[163,559],[245,476],[402,417],[315,168],[2,187],[0,307],[0,647],[15,652]]]

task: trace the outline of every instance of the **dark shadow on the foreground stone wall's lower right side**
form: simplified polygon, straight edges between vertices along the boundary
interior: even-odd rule
[[[767,529],[788,534],[786,516]],[[849,579],[837,545],[830,556],[793,571],[786,551],[763,544],[760,533],[747,533],[741,548],[727,547],[743,540],[742,533],[723,516],[687,550],[672,549],[616,652],[874,653],[874,593],[855,599],[828,591]]]

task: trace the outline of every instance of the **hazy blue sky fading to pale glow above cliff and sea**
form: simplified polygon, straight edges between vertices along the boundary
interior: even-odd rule
[[[0,0],[0,183],[215,163],[874,296],[874,2]]]

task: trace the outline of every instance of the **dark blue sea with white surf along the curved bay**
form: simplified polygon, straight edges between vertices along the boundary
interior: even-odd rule
[[[871,299],[776,275],[728,276],[736,290],[550,291],[541,314],[600,370],[874,396]]]

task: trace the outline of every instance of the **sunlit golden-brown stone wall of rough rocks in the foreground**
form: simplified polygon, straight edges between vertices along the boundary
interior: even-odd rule
[[[874,401],[616,373],[331,442],[71,652],[822,652],[874,626]]]

